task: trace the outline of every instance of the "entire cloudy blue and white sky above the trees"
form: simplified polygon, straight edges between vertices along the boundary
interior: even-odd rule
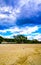
[[[41,0],[0,0],[0,36],[41,41]]]

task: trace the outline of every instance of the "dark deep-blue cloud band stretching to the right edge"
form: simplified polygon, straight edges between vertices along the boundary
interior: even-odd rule
[[[17,20],[16,24],[18,26],[23,26],[23,25],[41,25],[41,15],[38,17],[31,17],[31,18],[20,18]]]

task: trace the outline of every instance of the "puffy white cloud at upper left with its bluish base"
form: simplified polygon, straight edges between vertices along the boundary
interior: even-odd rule
[[[0,7],[0,25],[3,27],[9,28],[10,26],[14,26],[17,18],[19,17],[20,10],[15,8],[13,9],[10,6]],[[9,24],[9,27],[8,27]]]

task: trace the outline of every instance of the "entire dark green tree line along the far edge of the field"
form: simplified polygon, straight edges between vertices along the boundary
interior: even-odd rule
[[[37,39],[33,39],[33,40],[28,40],[26,36],[24,35],[17,35],[17,36],[13,36],[13,38],[3,38],[2,36],[0,36],[0,44],[2,44],[2,42],[7,42],[8,44],[13,42],[13,44],[37,44],[37,43],[41,43],[41,41],[38,41]]]

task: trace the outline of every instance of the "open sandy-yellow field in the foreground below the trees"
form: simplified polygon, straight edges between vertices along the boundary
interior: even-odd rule
[[[41,44],[0,44],[0,65],[41,65]]]

